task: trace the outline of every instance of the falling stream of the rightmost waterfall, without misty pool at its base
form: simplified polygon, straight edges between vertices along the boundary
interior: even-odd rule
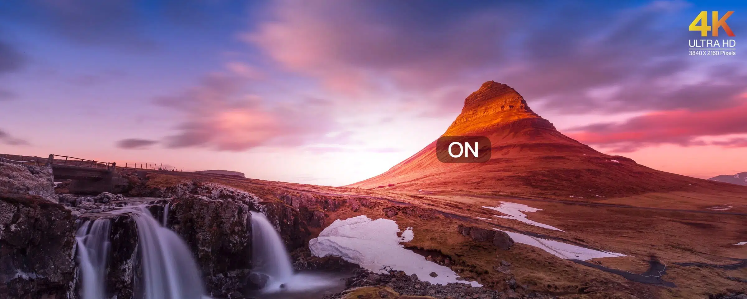
[[[293,276],[291,257],[280,235],[262,213],[252,211],[252,265],[254,271],[273,280],[285,281]]]

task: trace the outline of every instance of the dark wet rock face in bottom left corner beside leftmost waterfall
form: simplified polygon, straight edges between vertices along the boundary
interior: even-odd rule
[[[74,219],[63,205],[40,196],[0,195],[0,298],[72,295],[74,245]]]

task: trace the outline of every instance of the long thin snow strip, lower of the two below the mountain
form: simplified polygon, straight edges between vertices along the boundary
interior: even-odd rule
[[[494,228],[494,230],[499,230],[499,229]],[[501,231],[505,231],[505,230],[501,230]],[[557,242],[555,240],[542,239],[542,238],[537,238],[535,236],[527,236],[522,233],[513,233],[509,231],[505,231],[505,232],[509,234],[509,236],[511,237],[511,239],[514,240],[514,242],[540,248],[543,251],[547,251],[554,256],[560,257],[561,259],[589,260],[589,259],[598,259],[600,257],[625,256],[624,254],[618,254],[616,252],[595,251],[594,249],[583,248],[583,247],[571,245],[568,243]]]

